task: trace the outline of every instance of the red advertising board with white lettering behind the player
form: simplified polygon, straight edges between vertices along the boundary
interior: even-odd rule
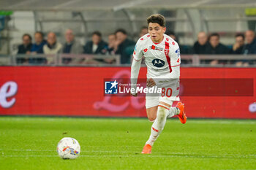
[[[255,119],[255,72],[256,68],[181,68],[181,87],[182,79],[238,79],[238,86],[249,79],[253,86],[252,94],[244,96],[181,95],[188,117]],[[145,97],[105,96],[106,78],[129,76],[129,67],[1,66],[0,115],[146,117]],[[145,77],[143,67],[140,78]]]

